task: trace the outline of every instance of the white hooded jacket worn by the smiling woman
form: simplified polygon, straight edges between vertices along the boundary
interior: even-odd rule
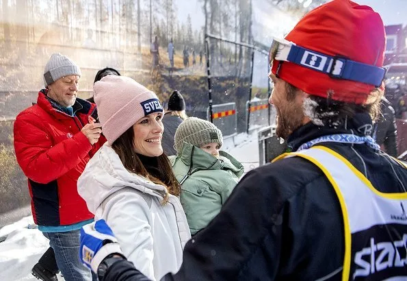
[[[191,234],[177,197],[170,195],[161,205],[164,186],[129,173],[105,143],[79,177],[78,192],[95,220],[107,221],[123,254],[144,275],[159,280],[179,270]]]

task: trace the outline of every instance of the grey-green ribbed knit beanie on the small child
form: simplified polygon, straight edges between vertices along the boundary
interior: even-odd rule
[[[196,147],[206,143],[219,143],[220,147],[222,147],[223,137],[222,132],[211,122],[196,117],[189,117],[175,131],[174,149],[177,152],[181,151],[183,142],[190,143]]]

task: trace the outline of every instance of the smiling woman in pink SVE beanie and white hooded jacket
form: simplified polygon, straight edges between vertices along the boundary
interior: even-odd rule
[[[179,270],[191,237],[161,147],[163,108],[155,93],[124,76],[96,82],[94,100],[107,143],[86,165],[78,192],[95,221],[107,221],[123,254],[159,280]]]

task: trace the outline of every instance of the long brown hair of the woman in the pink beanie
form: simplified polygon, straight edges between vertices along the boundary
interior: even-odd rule
[[[168,160],[166,154],[161,154],[157,157],[157,169],[159,170],[159,175],[153,176],[148,173],[143,162],[135,153],[133,138],[133,127],[129,127],[129,129],[119,136],[118,139],[115,140],[111,145],[111,148],[116,151],[116,154],[118,154],[120,160],[122,160],[124,168],[131,173],[136,173],[137,175],[142,175],[143,177],[148,178],[148,180],[154,182],[155,184],[166,186],[168,193],[179,196],[181,188],[175,178],[174,173],[172,172],[170,160]],[[166,194],[164,197],[163,204],[165,204],[167,200],[168,194]]]

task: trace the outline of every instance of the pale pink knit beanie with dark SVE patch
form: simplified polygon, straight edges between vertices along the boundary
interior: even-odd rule
[[[157,95],[130,77],[107,75],[94,84],[93,91],[109,145],[142,117],[163,112]]]

